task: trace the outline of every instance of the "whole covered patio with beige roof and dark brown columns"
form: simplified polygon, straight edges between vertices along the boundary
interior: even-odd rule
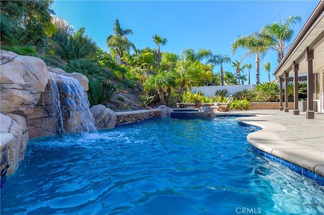
[[[314,119],[314,111],[324,113],[324,1],[318,2],[285,57],[273,72],[276,80],[279,80],[280,111],[289,112],[288,93],[285,93],[285,99],[282,101],[282,86],[285,83],[285,92],[288,92],[289,76],[293,76],[293,113],[299,115],[298,76],[301,74],[307,77],[306,118]]]

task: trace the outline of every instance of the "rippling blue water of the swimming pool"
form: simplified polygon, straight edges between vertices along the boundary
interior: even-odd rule
[[[260,156],[233,117],[39,138],[1,214],[323,214],[324,186]]]

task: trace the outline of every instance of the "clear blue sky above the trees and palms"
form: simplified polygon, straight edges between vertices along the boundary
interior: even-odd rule
[[[234,55],[231,43],[239,35],[259,31],[264,25],[279,22],[291,15],[302,17],[302,24],[294,27],[297,36],[314,10],[318,1],[57,1],[52,4],[56,15],[74,26],[80,27],[97,45],[109,52],[108,35],[113,34],[117,18],[121,28],[132,29],[128,38],[137,48],[156,48],[154,34],[168,38],[161,51],[180,55],[185,48],[211,49],[214,54],[229,55],[231,61],[240,61],[246,50],[239,48]],[[280,16],[279,16],[280,15]],[[291,41],[293,42],[293,40]],[[277,54],[270,50],[260,62],[260,81],[268,80],[262,69],[264,62],[271,64],[272,72],[277,67]],[[242,64],[252,64],[251,83],[255,78],[255,56],[245,58]],[[234,72],[231,64],[224,64],[224,71]],[[214,68],[214,73],[220,67]],[[244,74],[247,74],[247,70]]]

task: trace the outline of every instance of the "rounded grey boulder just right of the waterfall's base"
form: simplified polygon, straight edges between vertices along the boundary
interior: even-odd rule
[[[105,105],[97,104],[90,108],[92,116],[95,118],[97,129],[114,128],[116,124],[116,114]]]

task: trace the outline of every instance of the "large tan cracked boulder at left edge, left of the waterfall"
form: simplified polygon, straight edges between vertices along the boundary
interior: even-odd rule
[[[11,51],[1,50],[0,54],[1,113],[26,117],[48,82],[46,65],[41,59]]]

